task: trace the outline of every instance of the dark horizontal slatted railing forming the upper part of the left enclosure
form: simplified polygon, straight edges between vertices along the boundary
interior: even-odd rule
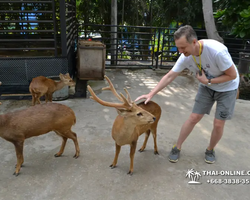
[[[1,1],[0,57],[67,56],[77,39],[75,4]]]

